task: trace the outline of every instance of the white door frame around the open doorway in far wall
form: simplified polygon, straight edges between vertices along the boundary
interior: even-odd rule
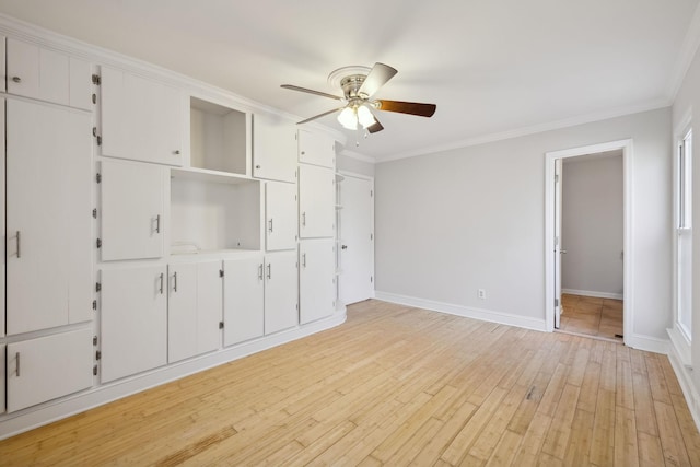
[[[622,150],[622,300],[625,302],[623,342],[628,343],[632,337],[634,303],[633,294],[633,264],[634,250],[632,236],[632,140],[618,140],[600,144],[591,144],[579,148],[565,149],[545,153],[545,325],[546,330],[555,330],[555,161],[558,159],[575,157],[579,155],[596,154]]]

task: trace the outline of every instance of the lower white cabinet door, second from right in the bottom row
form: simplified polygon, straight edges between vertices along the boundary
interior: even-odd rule
[[[299,324],[296,252],[265,257],[265,334]]]

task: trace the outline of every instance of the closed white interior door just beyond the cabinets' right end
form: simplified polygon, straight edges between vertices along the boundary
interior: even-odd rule
[[[374,197],[371,179],[346,176],[340,182],[340,276],[338,296],[345,304],[371,299],[374,290]]]

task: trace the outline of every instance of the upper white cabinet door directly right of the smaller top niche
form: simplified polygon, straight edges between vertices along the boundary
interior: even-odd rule
[[[279,117],[253,116],[253,176],[296,182],[296,128]]]

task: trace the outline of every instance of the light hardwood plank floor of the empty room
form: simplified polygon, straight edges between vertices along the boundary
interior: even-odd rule
[[[700,466],[666,357],[369,301],[0,442],[0,464]]]

